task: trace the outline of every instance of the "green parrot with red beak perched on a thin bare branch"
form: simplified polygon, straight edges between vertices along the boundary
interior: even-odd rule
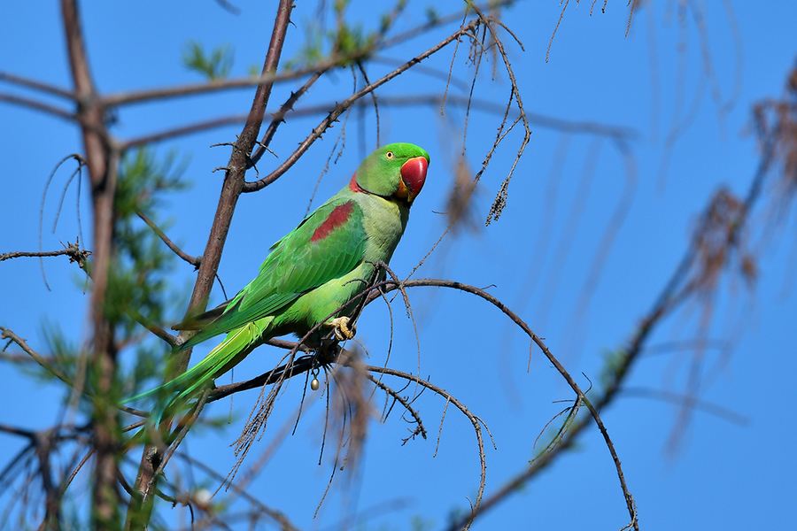
[[[352,298],[374,280],[376,264],[391,259],[428,165],[429,154],[411,143],[391,143],[371,153],[343,189],[271,246],[258,276],[244,289],[173,327],[197,331],[176,351],[226,337],[174,380],[126,402],[166,396],[160,417],[208,389],[259,342],[290,333],[302,337],[321,323],[338,340],[351,339],[349,315],[359,303]]]

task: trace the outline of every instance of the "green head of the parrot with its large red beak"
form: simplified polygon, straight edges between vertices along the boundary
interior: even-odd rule
[[[352,189],[412,204],[426,181],[429,153],[415,144],[396,142],[368,155],[352,177]]]

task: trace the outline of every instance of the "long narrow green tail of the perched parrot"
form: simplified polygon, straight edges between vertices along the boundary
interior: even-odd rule
[[[246,354],[247,349],[268,332],[274,321],[273,317],[258,319],[228,333],[222,342],[197,365],[180,374],[174,380],[166,381],[155,389],[150,389],[135,396],[126,398],[131,403],[142,398],[160,397],[159,405],[151,414],[151,420],[157,425],[167,411],[176,411],[190,402],[200,391],[213,385],[213,380],[236,366]]]

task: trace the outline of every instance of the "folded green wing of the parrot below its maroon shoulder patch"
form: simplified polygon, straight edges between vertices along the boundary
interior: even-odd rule
[[[337,206],[352,204],[344,224],[315,242],[313,234]],[[271,247],[259,274],[222,307],[187,319],[177,329],[200,329],[182,349],[190,348],[267,315],[274,315],[311,289],[350,273],[362,261],[367,235],[363,212],[352,199],[335,198],[321,205],[298,227]]]

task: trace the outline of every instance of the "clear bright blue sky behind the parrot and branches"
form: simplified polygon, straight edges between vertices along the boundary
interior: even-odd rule
[[[210,0],[190,7],[155,2],[81,4],[98,87],[115,92],[200,81],[181,62],[183,46],[190,40],[208,48],[229,44],[235,50],[232,74],[245,75],[251,65],[262,62],[273,19],[271,4],[275,3],[237,4],[242,11],[238,16]],[[290,28],[285,58],[296,56],[305,38],[301,28],[314,16],[314,4],[298,4],[294,16],[298,27]],[[779,2],[763,8],[750,2],[728,2],[733,13],[729,18],[725,3],[704,3],[705,48],[701,48],[692,14],[685,19],[681,33],[675,2],[652,6],[653,12],[647,6],[641,8],[627,38],[625,3],[610,2],[606,13],[596,9],[592,16],[589,3],[570,4],[548,62],[546,48],[559,18],[558,3],[520,2],[505,12],[508,25],[525,47],[522,51],[507,38],[523,103],[529,112],[628,127],[636,133],[627,141],[630,156],[606,138],[567,135],[532,124],[533,135],[510,184],[507,208],[498,222],[484,227],[492,198],[521,141],[515,132],[479,184],[473,229],[447,238],[417,276],[495,285],[491,293],[520,312],[570,373],[579,377],[579,384],[588,387],[587,379],[600,380],[606,352],[629,338],[654,303],[708,198],[723,186],[738,195],[746,191],[758,162],[750,127],[751,106],[762,98],[783,94],[786,73],[795,59],[797,5]],[[412,27],[422,12],[421,6],[411,8],[399,19],[399,29]],[[371,15],[373,12],[365,11],[361,18],[368,21]],[[69,86],[55,3],[5,3],[0,6],[0,20],[0,70]],[[385,55],[406,57],[444,36],[440,31],[415,39]],[[685,50],[683,54],[679,54],[679,46]],[[445,50],[429,65],[447,71],[451,53]],[[713,76],[707,75],[706,54]],[[461,54],[454,71],[469,80],[471,71],[463,58]],[[683,70],[679,68],[681,60]],[[507,76],[498,68],[492,80],[490,68],[484,67],[476,96],[500,103],[508,94]],[[387,69],[372,65],[369,74],[373,79]],[[351,85],[348,73],[336,73],[315,87],[306,103],[340,100]],[[278,86],[272,102],[282,102],[291,88]],[[441,89],[439,81],[407,74],[379,95],[430,94]],[[453,94],[461,93],[457,90],[453,88]],[[19,93],[9,85],[0,91]],[[247,89],[133,105],[120,112],[113,131],[120,137],[134,137],[187,120],[245,112],[250,103],[251,90]],[[449,107],[441,119],[438,111],[437,107],[387,107],[381,113],[383,141],[421,144],[432,159],[426,187],[414,204],[406,236],[391,263],[399,275],[409,273],[445,228],[445,217],[437,212],[445,212],[453,183],[463,116],[459,109]],[[361,152],[356,118],[352,114],[347,127],[344,156],[321,181],[319,200],[348,181],[357,165]],[[319,119],[289,120],[272,146],[275,152],[286,156]],[[364,137],[370,148],[375,144],[373,113],[366,113],[365,119]],[[471,167],[481,163],[498,120],[493,114],[473,112],[467,143]],[[45,180],[59,158],[81,149],[80,136],[65,122],[3,103],[0,123],[0,153],[6,161],[6,201],[0,209],[0,227],[5,229],[0,235],[0,251],[35,250]],[[682,133],[668,148],[667,139],[674,128]],[[228,150],[209,146],[234,139],[236,130],[221,128],[157,148],[159,154],[174,151],[187,161],[184,175],[192,186],[170,196],[161,216],[172,219],[170,235],[193,254],[201,252],[205,244],[217,200],[220,173],[212,170],[228,157]],[[337,131],[325,135],[274,186],[242,197],[220,269],[229,290],[249,281],[271,243],[303,217],[336,136]],[[274,162],[266,157],[260,164],[262,172]],[[632,173],[628,172],[630,164]],[[50,194],[45,206],[45,227],[51,223],[59,186],[67,175],[58,173],[54,186],[58,191]],[[766,193],[771,197],[773,192],[767,189]],[[584,282],[624,194],[631,196],[630,209],[607,249],[592,297],[585,301]],[[88,226],[88,204],[83,199],[84,225]],[[73,202],[74,189],[66,204]],[[759,227],[772,214],[767,199],[763,204],[754,212]],[[750,235],[759,279],[754,289],[748,289],[738,276],[723,281],[706,330],[706,337],[731,342],[732,349],[703,352],[705,384],[700,398],[747,421],[738,425],[695,412],[677,450],[668,452],[667,442],[677,425],[678,409],[673,404],[630,394],[603,412],[646,529],[778,528],[794,519],[797,493],[790,478],[797,473],[797,463],[791,449],[797,444],[797,435],[791,416],[783,412],[795,398],[792,380],[797,371],[791,337],[797,294],[793,283],[789,289],[797,244],[794,217],[792,211],[790,218],[771,226],[767,238]],[[67,206],[56,233],[45,232],[43,247],[52,249],[59,241],[74,240],[76,231],[74,208]],[[74,268],[64,267],[62,262],[55,258],[45,264],[51,291],[43,286],[35,261],[0,264],[4,294],[0,325],[27,337],[35,348],[46,348],[41,333],[45,321],[58,323],[75,342],[87,335],[87,297],[75,281]],[[190,266],[175,266],[170,280],[175,296],[187,296]],[[494,435],[497,450],[487,451],[489,495],[528,463],[539,430],[561,410],[561,404],[553,401],[569,398],[571,393],[538,351],[533,352],[530,372],[526,372],[527,342],[491,307],[472,297],[432,289],[417,289],[410,295],[419,321],[421,373],[468,404]],[[212,302],[221,297],[214,291]],[[396,323],[390,365],[415,372],[413,327],[404,318],[400,299],[393,314]],[[651,344],[697,337],[702,315],[699,304],[687,305],[657,330]],[[357,339],[367,347],[370,363],[375,365],[383,363],[387,323],[381,304],[371,305],[360,320]],[[680,350],[646,355],[635,366],[628,386],[684,392],[696,355]],[[255,351],[236,368],[236,380],[267,370],[274,360],[274,350]],[[125,363],[135,360],[126,358]],[[58,389],[42,386],[5,363],[0,365],[0,377],[9,398],[0,422],[29,428],[50,426],[58,414]],[[228,377],[221,381],[227,382]],[[249,463],[270,448],[283,425],[292,423],[300,388],[299,380],[291,382],[269,433],[252,450]],[[191,435],[187,444],[192,454],[226,472],[235,459],[229,444],[236,439],[256,397],[257,392],[251,391],[236,396],[232,404],[229,400],[213,404],[209,410],[216,416],[224,416],[232,408],[231,425],[221,434]],[[296,435],[282,443],[251,484],[253,493],[281,508],[299,527],[334,528],[352,511],[388,503],[390,510],[377,510],[362,528],[405,529],[420,519],[424,528],[437,529],[445,524],[449,512],[468,506],[468,497],[474,496],[478,484],[472,429],[467,419],[449,408],[434,455],[445,401],[425,393],[415,404],[429,429],[429,439],[402,446],[406,423],[399,415],[393,412],[384,424],[375,417],[359,473],[354,481],[338,475],[319,517],[313,519],[333,466],[331,451],[318,465],[322,402],[315,397]],[[381,404],[381,399],[376,400],[375,410]],[[599,432],[591,429],[579,443],[576,450],[561,456],[552,468],[485,515],[474,528],[622,527],[627,517],[623,497]],[[5,455],[19,444],[19,439],[0,435]],[[212,489],[215,486],[208,483]],[[85,492],[85,476],[77,489]],[[401,501],[399,509],[391,505],[396,500]],[[174,511],[167,514],[176,521]]]

